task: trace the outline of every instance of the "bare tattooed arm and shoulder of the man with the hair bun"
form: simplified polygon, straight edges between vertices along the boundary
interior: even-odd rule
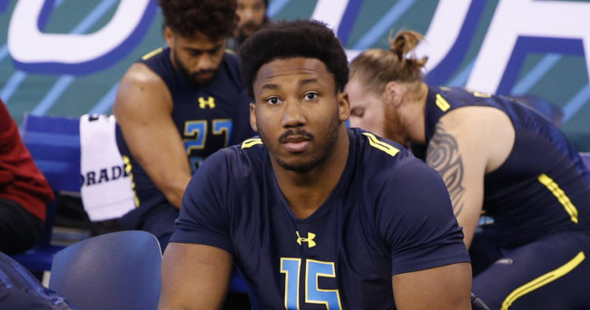
[[[443,116],[428,143],[427,164],[447,184],[467,247],[481,214],[484,176],[506,160],[513,142],[514,129],[504,113],[469,107]]]

